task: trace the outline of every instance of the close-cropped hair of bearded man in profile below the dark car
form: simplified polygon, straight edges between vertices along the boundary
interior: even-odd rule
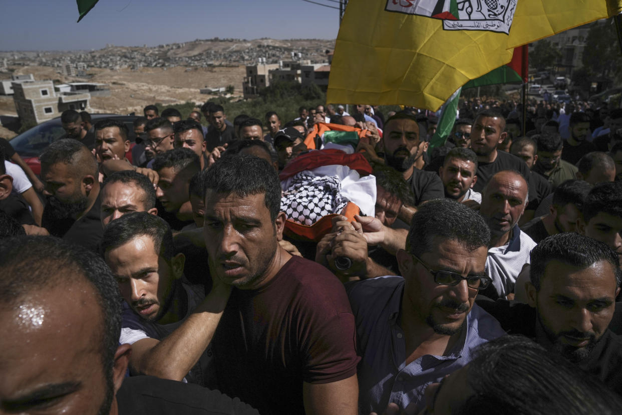
[[[64,138],[52,142],[39,156],[41,167],[49,167],[63,162],[72,166],[82,175],[94,175],[98,177],[98,166],[95,156],[90,154],[88,148],[80,141],[72,138]]]

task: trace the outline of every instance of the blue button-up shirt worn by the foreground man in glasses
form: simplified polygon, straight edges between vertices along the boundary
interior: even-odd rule
[[[404,279],[378,277],[346,285],[356,320],[361,361],[358,366],[359,411],[383,413],[389,403],[401,409],[425,408],[424,390],[471,360],[473,349],[504,335],[499,322],[474,304],[460,338],[445,356],[424,355],[406,363],[404,331],[397,324]]]

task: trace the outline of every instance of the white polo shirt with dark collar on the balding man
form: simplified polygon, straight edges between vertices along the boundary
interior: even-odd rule
[[[494,290],[499,297],[514,292],[518,274],[524,264],[529,264],[529,253],[536,245],[529,235],[514,225],[512,237],[505,245],[488,249],[486,275],[493,279]]]

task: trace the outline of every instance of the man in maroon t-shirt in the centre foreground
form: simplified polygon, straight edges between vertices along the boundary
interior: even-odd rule
[[[230,296],[213,335],[216,385],[262,414],[356,414],[355,320],[345,289],[279,246],[281,186],[263,159],[205,172],[205,246]]]

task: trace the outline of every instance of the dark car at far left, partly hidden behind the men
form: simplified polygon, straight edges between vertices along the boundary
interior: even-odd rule
[[[122,121],[128,126],[129,129],[129,141],[134,146],[136,136],[134,136],[134,119],[138,118],[135,115],[119,115],[119,114],[91,114],[91,123],[95,124],[101,119],[116,119]],[[30,169],[35,174],[41,173],[41,165],[39,163],[39,156],[53,141],[56,141],[65,135],[65,130],[60,123],[60,117],[44,121],[28,131],[19,134],[15,138],[11,139],[11,146],[15,149],[22,159],[28,164]],[[132,152],[131,149],[126,153],[126,157],[131,161]]]

